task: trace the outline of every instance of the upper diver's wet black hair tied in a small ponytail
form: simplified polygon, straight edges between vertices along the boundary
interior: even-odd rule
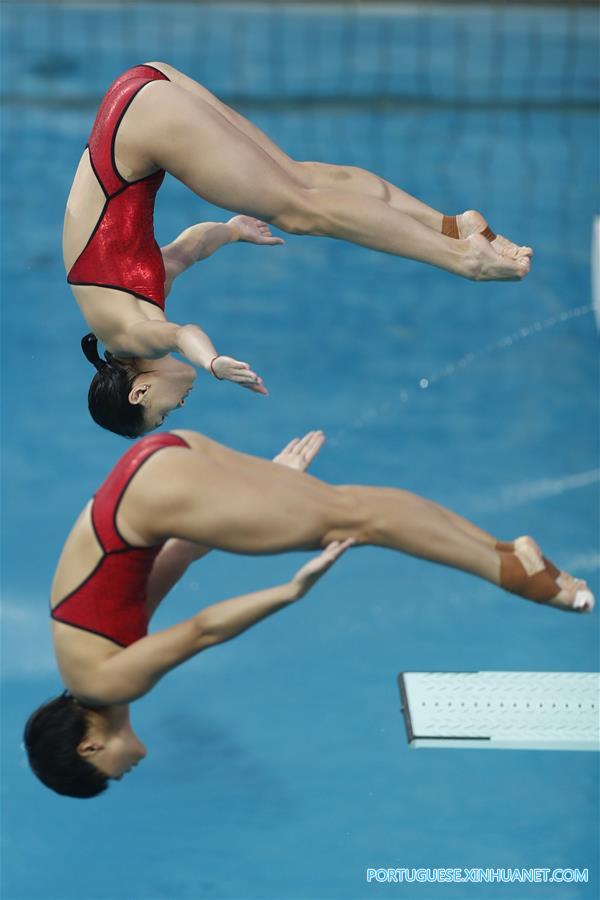
[[[91,332],[81,339],[85,358],[96,368],[88,391],[88,409],[96,424],[123,437],[144,433],[144,407],[129,402],[135,373],[118,362],[112,353],[98,354],[98,338]]]

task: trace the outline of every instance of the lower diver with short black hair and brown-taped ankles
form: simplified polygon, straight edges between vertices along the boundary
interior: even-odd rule
[[[311,432],[292,441],[274,465],[184,431],[145,437],[117,462],[71,529],[52,585],[52,639],[69,696],[38,709],[25,733],[45,784],[93,796],[120,778],[145,755],[129,705],[192,656],[298,600],[350,544],[461,569],[563,611],[592,610],[586,582],[553,565],[530,537],[499,541],[410,491],[333,486],[305,474],[323,440]],[[325,552],[286,584],[147,634],[161,600],[211,548]]]

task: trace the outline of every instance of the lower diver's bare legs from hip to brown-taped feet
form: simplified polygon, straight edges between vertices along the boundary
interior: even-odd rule
[[[162,484],[169,484],[167,494],[156,487]],[[234,553],[271,554],[354,537],[357,543],[462,569],[566,609],[584,589],[574,579],[557,583],[541,556],[529,549],[503,552],[488,546],[458,527],[438,504],[409,491],[333,487],[232,451],[217,460],[204,453],[162,451],[146,463],[134,489],[137,527],[155,523],[151,540],[168,535]]]

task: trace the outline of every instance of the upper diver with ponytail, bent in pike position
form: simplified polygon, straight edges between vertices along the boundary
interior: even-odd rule
[[[241,215],[193,226],[159,248],[152,217],[165,171]],[[290,159],[172,66],[135,66],[102,101],[63,232],[68,281],[92,331],[83,348],[98,370],[89,405],[99,424],[138,436],[181,406],[195,373],[172,352],[218,379],[266,394],[247,363],[219,355],[196,325],[177,325],[164,315],[174,278],[218,247],[235,240],[282,243],[263,220],[474,280],[520,280],[532,254],[495,235],[473,210],[444,216],[371,172]]]

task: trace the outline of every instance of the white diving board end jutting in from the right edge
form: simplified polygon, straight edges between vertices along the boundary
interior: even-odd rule
[[[401,672],[411,747],[600,750],[596,672]]]

